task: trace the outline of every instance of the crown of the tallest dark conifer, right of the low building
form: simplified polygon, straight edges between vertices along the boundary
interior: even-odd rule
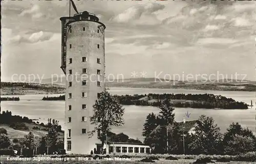
[[[170,104],[169,99],[164,99],[160,106],[160,114],[159,117],[162,120],[162,126],[172,125],[174,122],[175,114],[174,114],[174,108],[172,107],[172,104]]]

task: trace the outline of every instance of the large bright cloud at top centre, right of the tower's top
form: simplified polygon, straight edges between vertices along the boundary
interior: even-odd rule
[[[161,22],[154,12],[164,9],[164,5],[148,3],[144,6],[132,6],[122,13],[119,13],[111,20],[119,23],[134,22],[135,24],[156,24]]]

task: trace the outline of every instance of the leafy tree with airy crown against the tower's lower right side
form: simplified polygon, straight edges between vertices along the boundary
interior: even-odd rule
[[[124,108],[119,104],[117,97],[104,91],[93,105],[93,112],[94,114],[90,117],[90,122],[96,126],[94,130],[89,132],[90,137],[99,129],[101,132],[99,139],[103,147],[106,133],[110,131],[113,126],[121,126],[124,124]]]

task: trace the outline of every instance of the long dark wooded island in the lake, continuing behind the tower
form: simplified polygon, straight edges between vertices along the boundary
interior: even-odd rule
[[[161,101],[169,99],[174,107],[248,109],[248,104],[232,98],[214,94],[144,94],[115,95],[123,105],[160,106]],[[65,95],[44,97],[42,100],[65,100]]]

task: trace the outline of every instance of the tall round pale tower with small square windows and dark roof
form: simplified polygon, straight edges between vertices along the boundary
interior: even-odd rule
[[[67,76],[65,101],[65,150],[89,154],[101,143],[97,131],[89,131],[93,105],[105,90],[105,25],[94,14],[84,11],[62,17],[62,64]]]

